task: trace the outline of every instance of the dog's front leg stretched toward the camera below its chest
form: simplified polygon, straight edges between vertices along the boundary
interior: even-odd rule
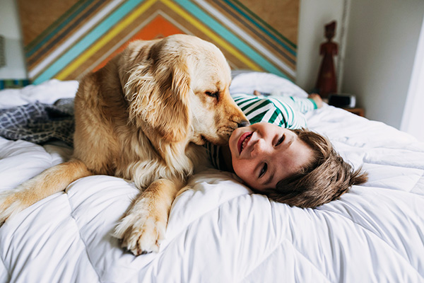
[[[158,252],[165,238],[170,207],[182,188],[180,181],[155,180],[134,200],[131,208],[114,230],[122,240],[122,247],[134,255]]]

